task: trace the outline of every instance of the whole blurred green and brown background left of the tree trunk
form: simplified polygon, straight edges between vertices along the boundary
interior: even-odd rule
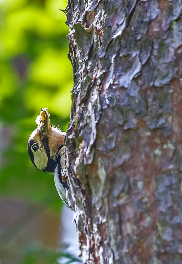
[[[66,131],[66,0],[0,0],[0,264],[56,263],[62,201],[27,154],[41,107]]]

